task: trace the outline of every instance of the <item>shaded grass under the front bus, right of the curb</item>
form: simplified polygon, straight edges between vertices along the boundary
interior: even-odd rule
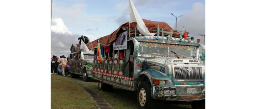
[[[72,78],[88,86],[103,97],[114,109],[138,109],[136,92],[114,87],[112,92],[100,91],[98,82],[84,82],[82,78]],[[192,109],[190,105],[166,105],[158,103],[155,109]]]

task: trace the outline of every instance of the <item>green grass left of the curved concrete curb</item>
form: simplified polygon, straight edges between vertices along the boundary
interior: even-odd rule
[[[51,75],[51,109],[97,109],[90,95],[67,77]]]

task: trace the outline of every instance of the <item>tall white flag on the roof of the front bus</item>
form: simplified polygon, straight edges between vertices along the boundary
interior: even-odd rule
[[[144,36],[154,36],[155,33],[150,33],[143,22],[143,20],[140,18],[140,15],[136,8],[134,7],[132,0],[129,0],[129,23],[137,23],[137,28],[140,31],[140,33]]]

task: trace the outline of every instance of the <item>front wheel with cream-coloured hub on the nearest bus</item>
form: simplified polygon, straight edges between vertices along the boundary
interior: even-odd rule
[[[137,91],[137,105],[139,109],[154,109],[155,100],[151,98],[151,84],[149,81],[142,81]]]

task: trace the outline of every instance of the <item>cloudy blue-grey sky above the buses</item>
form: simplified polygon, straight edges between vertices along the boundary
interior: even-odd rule
[[[132,0],[142,19],[163,21],[201,39],[205,35],[205,0]],[[51,57],[70,53],[81,35],[90,41],[109,35],[128,22],[128,0],[53,0]],[[171,15],[173,13],[173,15]]]

